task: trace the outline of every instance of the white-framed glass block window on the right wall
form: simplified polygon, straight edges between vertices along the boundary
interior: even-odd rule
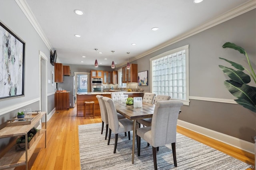
[[[188,45],[150,59],[152,93],[169,95],[188,105]]]

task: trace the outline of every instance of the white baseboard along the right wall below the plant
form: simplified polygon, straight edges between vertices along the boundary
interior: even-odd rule
[[[254,144],[239,138],[235,138],[233,136],[229,136],[227,134],[223,134],[220,132],[216,132],[214,130],[210,130],[208,128],[200,127],[198,125],[194,125],[192,123],[188,123],[185,121],[178,120],[177,123],[178,126],[187,128],[189,130],[192,130],[194,132],[197,132],[199,134],[202,134],[204,136],[207,136],[209,138],[213,138],[215,140],[218,140],[220,142],[226,143],[230,146],[234,146],[236,148],[245,150],[246,152],[250,152],[254,154]]]

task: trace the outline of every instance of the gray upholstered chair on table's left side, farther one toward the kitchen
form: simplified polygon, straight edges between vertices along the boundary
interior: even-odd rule
[[[103,96],[102,95],[96,95],[99,105],[100,105],[100,116],[102,120],[102,127],[101,127],[101,134],[103,133],[103,128],[104,128],[104,123],[106,124],[106,134],[105,134],[105,140],[107,139],[108,135],[108,113],[107,113],[107,108],[105,105],[105,102],[103,101]],[[117,113],[118,119],[125,119],[123,115],[120,113]]]

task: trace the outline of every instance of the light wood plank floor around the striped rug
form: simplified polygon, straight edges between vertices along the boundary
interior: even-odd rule
[[[78,125],[100,122],[100,116],[96,116],[95,119],[76,117],[76,107],[68,111],[56,111],[50,121],[47,122],[47,146],[44,148],[43,137],[29,161],[28,168],[31,170],[80,170]],[[244,152],[182,127],[178,127],[177,131],[254,165],[254,154]],[[24,170],[25,166],[15,169]]]

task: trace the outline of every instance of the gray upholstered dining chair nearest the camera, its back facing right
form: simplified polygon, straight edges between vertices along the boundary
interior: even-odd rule
[[[176,160],[176,126],[182,101],[159,101],[156,103],[151,127],[137,129],[138,156],[140,156],[140,140],[143,138],[152,145],[154,169],[157,170],[156,147],[172,144],[174,166]]]

